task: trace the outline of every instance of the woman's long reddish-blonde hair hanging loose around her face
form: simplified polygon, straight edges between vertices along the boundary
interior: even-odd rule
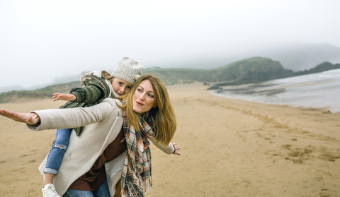
[[[126,110],[128,121],[137,131],[139,131],[138,114],[133,111],[132,97],[143,80],[149,80],[154,91],[155,107],[152,107],[152,109],[149,110],[149,114],[154,117],[154,123],[150,125],[154,129],[154,138],[162,145],[168,145],[176,131],[176,117],[170,103],[168,91],[162,83],[162,80],[151,74],[141,76],[136,81],[135,85],[132,86],[132,89],[128,94],[118,97],[118,99],[125,98],[126,100],[124,106],[118,106],[121,109]]]

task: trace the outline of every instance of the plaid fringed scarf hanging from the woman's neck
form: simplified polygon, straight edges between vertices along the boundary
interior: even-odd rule
[[[122,196],[144,196],[144,191],[149,191],[152,186],[151,179],[151,152],[149,140],[154,131],[148,123],[154,122],[149,112],[139,116],[140,131],[129,123],[126,112],[123,112],[123,130],[128,153],[122,172]]]

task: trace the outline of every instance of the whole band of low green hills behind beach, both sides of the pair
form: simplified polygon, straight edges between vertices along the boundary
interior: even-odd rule
[[[152,73],[162,79],[165,85],[176,83],[193,83],[194,81],[213,84],[210,89],[219,88],[221,85],[239,85],[244,83],[258,83],[276,78],[287,78],[309,73],[317,73],[330,69],[340,68],[340,64],[324,62],[310,70],[293,72],[285,69],[278,61],[263,57],[253,57],[235,61],[220,68],[190,69],[190,68],[146,68],[143,73]],[[79,82],[50,85],[37,90],[22,90],[3,92],[0,102],[20,102],[43,97],[52,97],[54,92],[69,92],[74,87],[79,87]]]

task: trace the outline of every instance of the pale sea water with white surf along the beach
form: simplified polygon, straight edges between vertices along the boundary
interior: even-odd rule
[[[340,69],[262,83],[224,86],[213,95],[292,107],[323,108],[340,112]]]

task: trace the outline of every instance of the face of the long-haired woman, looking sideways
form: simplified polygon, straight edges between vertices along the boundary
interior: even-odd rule
[[[140,85],[138,85],[135,93],[132,97],[133,111],[138,114],[143,114],[148,112],[152,107],[154,107],[154,89],[150,80],[143,80]]]

